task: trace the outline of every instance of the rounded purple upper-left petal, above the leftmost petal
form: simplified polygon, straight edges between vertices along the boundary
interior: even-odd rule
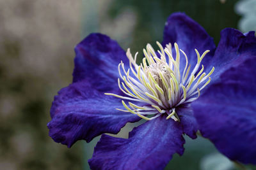
[[[73,81],[86,80],[100,91],[118,89],[118,64],[129,61],[124,50],[108,36],[90,34],[76,48]]]

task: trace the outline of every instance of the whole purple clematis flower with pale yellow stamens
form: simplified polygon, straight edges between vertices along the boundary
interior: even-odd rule
[[[75,48],[72,84],[54,97],[49,136],[71,147],[102,134],[92,169],[163,169],[199,128],[230,159],[255,163],[255,45],[253,32],[224,29],[216,48],[184,13],[170,15],[159,50],[148,44],[141,64],[138,53],[90,34]],[[141,118],[128,139],[104,134]]]

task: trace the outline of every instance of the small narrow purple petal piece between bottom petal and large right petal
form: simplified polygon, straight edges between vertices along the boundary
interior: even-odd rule
[[[190,107],[180,107],[175,110],[180,118],[180,123],[182,125],[183,132],[187,134],[190,138],[195,139],[196,132],[198,131],[198,124],[192,108]]]

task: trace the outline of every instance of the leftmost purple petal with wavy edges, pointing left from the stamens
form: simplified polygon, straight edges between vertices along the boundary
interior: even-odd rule
[[[49,136],[70,147],[79,139],[90,142],[104,132],[116,134],[127,122],[140,120],[116,108],[123,108],[120,99],[106,96],[84,81],[72,83],[54,97]]]

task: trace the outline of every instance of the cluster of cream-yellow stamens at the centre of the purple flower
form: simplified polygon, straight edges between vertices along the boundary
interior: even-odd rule
[[[152,120],[166,114],[166,119],[172,118],[179,121],[175,108],[180,104],[191,103],[200,96],[200,90],[204,89],[211,81],[210,76],[214,67],[208,74],[203,73],[204,65],[198,71],[202,59],[209,50],[206,50],[200,56],[198,50],[195,49],[197,63],[191,70],[186,53],[179,49],[177,43],[174,43],[175,59],[172,55],[172,45],[170,43],[165,48],[159,42],[157,42],[157,45],[160,48],[160,50],[157,50],[159,57],[157,57],[152,46],[148,44],[147,50],[143,49],[145,57],[140,65],[136,64],[138,52],[133,58],[128,49],[126,55],[129,59],[129,69],[125,70],[122,61],[118,65],[118,71],[122,79],[121,82],[118,78],[118,86],[126,96],[105,94],[133,101],[133,103],[128,102],[129,106],[122,101],[126,110],[118,108],[116,110],[131,112],[145,120]],[[186,64],[182,70],[180,68],[180,52],[186,59]],[[132,75],[130,75],[130,71]],[[147,117],[148,115],[153,115],[153,117]]]

